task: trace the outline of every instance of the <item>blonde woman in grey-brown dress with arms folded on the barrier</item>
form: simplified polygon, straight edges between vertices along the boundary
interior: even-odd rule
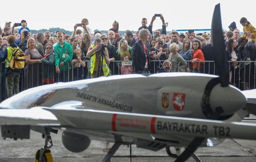
[[[37,44],[34,38],[30,37],[27,43],[25,61],[27,66],[24,68],[24,90],[42,85],[42,55],[36,49]]]

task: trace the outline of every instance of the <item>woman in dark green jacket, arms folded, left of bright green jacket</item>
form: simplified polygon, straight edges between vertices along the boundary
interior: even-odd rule
[[[43,64],[43,84],[54,83],[54,59],[53,44],[47,43],[45,45],[46,54],[42,59]]]

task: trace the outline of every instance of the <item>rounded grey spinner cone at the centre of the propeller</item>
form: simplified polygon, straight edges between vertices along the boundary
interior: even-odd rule
[[[223,113],[221,115],[229,115],[243,108],[246,104],[246,98],[239,89],[229,85],[228,87],[221,87],[216,85],[210,94],[210,107],[222,107]]]

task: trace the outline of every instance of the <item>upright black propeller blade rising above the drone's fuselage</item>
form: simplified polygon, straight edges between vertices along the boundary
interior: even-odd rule
[[[211,38],[213,58],[219,73],[221,87],[227,87],[229,84],[228,64],[221,24],[220,4],[217,4],[214,8],[211,22]]]

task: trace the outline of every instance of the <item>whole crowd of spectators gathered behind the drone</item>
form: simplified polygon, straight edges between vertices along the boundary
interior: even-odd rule
[[[27,21],[7,21],[0,27],[1,101],[21,90],[54,82],[67,82],[100,76],[132,73],[199,72],[217,74],[208,33],[166,32],[168,22],[160,15],[162,29],[153,31],[154,15],[149,26],[147,19],[135,34],[118,33],[119,23],[114,21],[107,33],[93,32],[89,21],[82,19],[74,25],[71,36],[63,31],[31,33]],[[239,83],[249,89],[250,79],[255,77],[256,30],[241,18],[243,35],[232,22],[228,32],[223,32],[228,60],[230,83]],[[20,27],[20,28],[19,28]],[[81,27],[81,29],[77,29]],[[19,29],[18,29],[19,28]],[[24,70],[13,70],[9,61],[14,49],[25,53]],[[129,62],[123,64],[118,61]],[[240,62],[242,61],[242,63]],[[255,84],[255,78],[254,78]],[[7,90],[7,91],[6,91]]]

